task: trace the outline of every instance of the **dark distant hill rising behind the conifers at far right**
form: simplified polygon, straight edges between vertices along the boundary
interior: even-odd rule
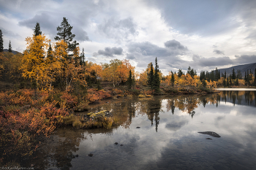
[[[245,72],[247,72],[247,70],[252,70],[252,74],[255,75],[255,68],[256,68],[256,63],[247,63],[247,64],[243,64],[243,65],[238,65],[238,66],[231,66],[230,68],[227,69],[218,69],[219,70],[219,74],[222,75],[222,73],[224,74],[225,71],[227,72],[227,75],[232,74],[233,69],[235,69],[235,72],[237,74],[237,70],[239,69],[241,71],[241,74],[244,77]]]

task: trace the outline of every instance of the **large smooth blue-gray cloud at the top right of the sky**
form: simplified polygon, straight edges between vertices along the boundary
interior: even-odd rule
[[[183,34],[219,34],[238,28],[241,23],[232,20],[234,16],[251,16],[255,9],[255,1],[147,1],[153,7],[158,7],[162,18],[172,28]],[[251,7],[249,7],[251,6]],[[248,10],[249,9],[249,10]],[[255,20],[255,19],[254,19]]]

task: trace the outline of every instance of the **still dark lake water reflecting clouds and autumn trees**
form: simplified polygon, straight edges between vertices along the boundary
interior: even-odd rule
[[[255,96],[256,91],[233,90],[102,101],[90,112],[110,110],[121,125],[57,129],[28,164],[39,169],[255,169]],[[209,135],[213,132],[220,137]]]

